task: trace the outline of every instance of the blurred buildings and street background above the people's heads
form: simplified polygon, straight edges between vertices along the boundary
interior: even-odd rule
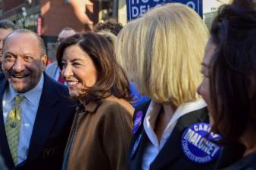
[[[227,2],[229,0],[203,0],[203,17],[208,27],[217,8]],[[123,26],[126,24],[126,0],[0,0],[0,19],[11,20],[17,27],[31,29],[42,36],[49,60],[55,60],[61,29],[71,27],[83,32],[111,18]]]

